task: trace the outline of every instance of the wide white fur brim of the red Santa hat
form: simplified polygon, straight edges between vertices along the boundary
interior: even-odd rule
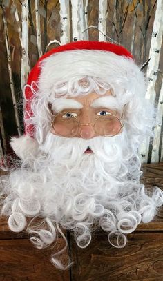
[[[98,77],[98,81],[109,81],[110,88],[115,95],[123,97],[123,91],[128,89],[132,93],[139,95],[139,90],[144,88],[143,73],[135,65],[133,59],[115,55],[112,52],[99,50],[73,50],[70,52],[61,52],[44,59],[40,64],[41,75],[39,77],[40,94],[52,97],[55,95],[57,86],[57,95],[77,96],[83,92],[90,92],[88,85],[78,85],[72,87],[73,81],[79,81],[79,77],[86,76]],[[71,81],[68,84],[68,81]],[[65,88],[64,84],[66,82]],[[59,93],[59,86],[61,91]],[[103,88],[105,83],[103,84]],[[107,84],[106,84],[107,87]],[[95,91],[98,85],[95,84]],[[142,92],[141,90],[141,92]],[[58,97],[57,96],[57,97]]]

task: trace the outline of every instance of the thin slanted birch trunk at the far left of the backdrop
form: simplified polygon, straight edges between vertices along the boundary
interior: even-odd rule
[[[11,89],[11,95],[12,95],[12,103],[14,107],[14,112],[15,112],[15,122],[17,125],[17,133],[20,136],[21,135],[21,127],[20,127],[20,122],[19,122],[19,115],[18,115],[18,110],[17,110],[17,100],[15,97],[15,88],[14,88],[14,83],[13,83],[13,77],[12,77],[12,68],[11,68],[11,52],[10,52],[10,43],[9,43],[9,37],[8,37],[8,26],[7,26],[7,20],[6,20],[6,10],[3,8],[3,23],[4,23],[4,33],[5,33],[5,43],[6,43],[6,51],[8,55],[8,74],[9,74],[9,79],[10,79],[10,89]]]

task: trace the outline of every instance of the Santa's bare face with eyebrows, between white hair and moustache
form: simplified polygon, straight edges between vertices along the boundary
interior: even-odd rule
[[[99,135],[113,137],[122,131],[120,110],[111,90],[104,95],[59,99],[52,108],[52,130],[63,137],[91,139]]]

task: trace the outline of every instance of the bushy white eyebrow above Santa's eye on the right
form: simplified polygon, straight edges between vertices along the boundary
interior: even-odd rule
[[[95,99],[90,106],[93,108],[104,107],[104,108],[117,109],[117,110],[121,108],[117,99],[111,96],[99,97],[98,99]]]

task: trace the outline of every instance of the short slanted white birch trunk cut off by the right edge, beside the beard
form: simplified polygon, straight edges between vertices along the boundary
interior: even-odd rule
[[[157,126],[155,126],[155,130],[154,130],[151,162],[159,162],[160,135],[161,135],[162,118],[163,118],[163,79],[162,79],[162,88],[160,90],[160,96],[157,106],[157,115],[158,115],[159,122]],[[163,155],[161,155],[161,158],[162,156]]]

